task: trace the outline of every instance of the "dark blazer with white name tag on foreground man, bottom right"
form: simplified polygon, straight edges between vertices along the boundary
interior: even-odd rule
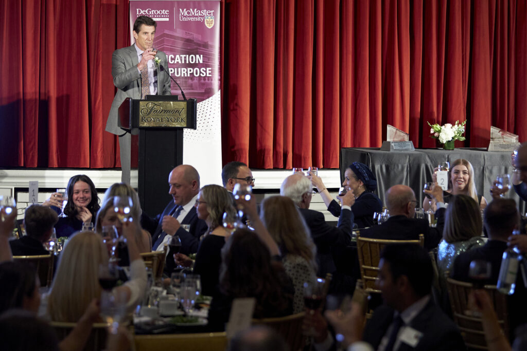
[[[375,309],[372,319],[364,329],[363,340],[377,349],[384,334],[386,334],[386,330],[392,323],[393,317],[393,308],[383,305]],[[408,326],[423,333],[423,337],[415,348],[401,343],[397,351],[459,351],[466,349],[457,326],[440,308],[435,306],[432,298]]]

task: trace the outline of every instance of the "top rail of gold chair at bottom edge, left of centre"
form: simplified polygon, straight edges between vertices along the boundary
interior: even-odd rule
[[[225,351],[227,334],[162,334],[135,335],[135,351],[184,350],[184,351]]]

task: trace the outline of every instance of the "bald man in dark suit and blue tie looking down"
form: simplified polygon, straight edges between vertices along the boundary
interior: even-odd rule
[[[163,245],[168,244],[173,235],[177,235],[181,239],[180,253],[196,253],[199,238],[207,230],[207,223],[198,218],[194,207],[200,189],[198,171],[190,165],[177,166],[170,172],[168,182],[173,201],[157,217],[143,217],[142,225],[153,233],[154,251],[162,250]],[[152,228],[155,230],[152,231]],[[172,257],[168,257],[167,265],[174,265]]]

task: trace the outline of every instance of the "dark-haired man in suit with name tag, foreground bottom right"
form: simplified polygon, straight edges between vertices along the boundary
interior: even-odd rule
[[[364,342],[383,351],[465,349],[456,325],[431,298],[432,262],[423,248],[413,244],[388,245],[380,255],[379,269],[377,286],[384,305],[375,309],[366,325]],[[354,312],[344,318],[327,314],[336,332],[344,336],[345,346],[360,339],[360,325],[350,323],[348,318],[359,316]]]

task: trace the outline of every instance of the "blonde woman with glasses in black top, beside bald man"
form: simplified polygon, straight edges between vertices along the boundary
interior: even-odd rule
[[[221,265],[221,248],[225,245],[230,233],[223,228],[223,213],[233,212],[232,197],[229,192],[219,185],[206,185],[201,188],[196,200],[198,218],[203,219],[208,229],[200,242],[196,262],[195,274],[201,277],[203,295],[214,295],[219,281]],[[174,255],[177,263],[189,266],[191,260],[183,254]]]

